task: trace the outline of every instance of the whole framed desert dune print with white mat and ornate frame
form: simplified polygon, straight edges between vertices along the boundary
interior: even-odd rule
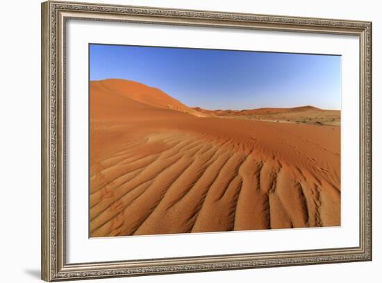
[[[372,259],[372,23],[42,3],[42,279]]]

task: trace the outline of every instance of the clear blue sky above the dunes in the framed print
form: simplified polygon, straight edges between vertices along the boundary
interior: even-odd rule
[[[341,108],[341,57],[90,44],[90,80],[124,78],[210,110]]]

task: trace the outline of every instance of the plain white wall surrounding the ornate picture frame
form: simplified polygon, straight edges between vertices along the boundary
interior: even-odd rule
[[[105,0],[139,6],[360,19],[373,22],[374,260],[244,271],[97,280],[94,282],[379,282],[382,266],[382,19],[379,1]],[[99,2],[93,0],[93,2]],[[103,2],[103,1],[100,1]],[[1,282],[40,280],[40,1],[3,1],[0,17]],[[346,176],[345,176],[346,178]],[[90,282],[90,281],[88,281]],[[93,281],[92,281],[93,282]]]

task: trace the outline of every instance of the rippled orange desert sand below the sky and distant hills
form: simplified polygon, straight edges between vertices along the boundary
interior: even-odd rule
[[[193,111],[91,82],[91,237],[340,225],[340,127]]]

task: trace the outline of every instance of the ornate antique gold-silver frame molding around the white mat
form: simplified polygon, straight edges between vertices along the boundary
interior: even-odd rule
[[[67,264],[65,24],[68,19],[356,35],[360,42],[360,242],[347,248]],[[201,10],[42,3],[42,279],[92,279],[372,260],[372,23]]]

